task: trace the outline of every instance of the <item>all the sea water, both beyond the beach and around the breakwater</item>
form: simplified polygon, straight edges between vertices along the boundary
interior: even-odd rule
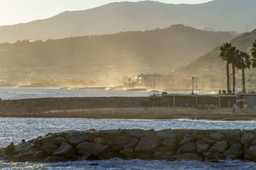
[[[174,93],[174,92],[173,92]],[[179,92],[180,93],[180,92]],[[153,92],[127,92],[124,90],[86,90],[54,88],[1,87],[1,99],[29,99],[41,97],[110,97],[149,96]],[[44,136],[49,132],[84,131],[88,129],[255,129],[255,121],[212,120],[123,120],[87,118],[0,118],[0,147],[22,139]],[[0,169],[256,169],[255,162],[225,160],[221,163],[196,160],[84,160],[59,163],[4,162]]]

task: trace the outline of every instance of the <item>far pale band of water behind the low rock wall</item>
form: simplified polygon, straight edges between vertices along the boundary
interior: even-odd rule
[[[188,92],[172,92],[188,94]],[[33,99],[43,97],[147,97],[153,92],[132,92],[125,90],[88,90],[31,87],[0,87],[1,99]],[[156,94],[161,94],[156,93]]]

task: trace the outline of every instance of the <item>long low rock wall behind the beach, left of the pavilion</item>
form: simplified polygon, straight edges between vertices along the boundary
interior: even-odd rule
[[[136,108],[149,105],[149,97],[63,97],[4,100],[0,113],[42,112],[84,108]]]

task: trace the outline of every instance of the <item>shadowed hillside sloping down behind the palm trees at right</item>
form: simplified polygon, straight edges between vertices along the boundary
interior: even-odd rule
[[[250,54],[250,49],[252,42],[256,39],[256,29],[252,32],[246,32],[232,39],[230,43],[236,46],[239,50],[248,52]],[[221,72],[226,70],[226,65],[223,60],[220,59],[220,46],[214,48],[211,52],[206,53],[202,57],[199,57],[195,61],[191,62],[187,66],[182,66],[176,69],[175,73],[182,74],[215,74],[220,75]],[[254,71],[255,72],[255,71]],[[220,73],[220,74],[219,74]],[[223,74],[221,74],[223,75]]]

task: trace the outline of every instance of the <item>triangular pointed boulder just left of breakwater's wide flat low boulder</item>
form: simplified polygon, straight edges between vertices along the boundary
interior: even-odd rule
[[[52,155],[70,158],[74,153],[74,148],[71,145],[68,143],[61,143],[60,147]]]

